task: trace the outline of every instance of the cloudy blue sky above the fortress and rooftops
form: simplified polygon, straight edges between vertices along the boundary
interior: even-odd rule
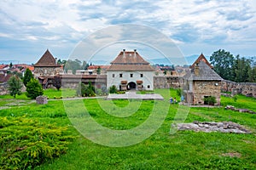
[[[254,0],[2,0],[0,62],[36,63],[47,48],[56,58],[71,59],[87,37],[125,25],[133,29],[113,29],[114,38],[95,52],[98,58],[111,61],[123,48],[137,48],[148,59],[162,57],[156,50],[152,53],[150,44],[148,49],[143,42],[113,42],[130,40],[138,33],[134,32],[136,26],[147,27],[147,31],[139,29],[147,42],[164,35],[184,56],[210,56],[220,48],[235,55],[255,56],[255,13]],[[95,40],[102,41],[96,36]]]

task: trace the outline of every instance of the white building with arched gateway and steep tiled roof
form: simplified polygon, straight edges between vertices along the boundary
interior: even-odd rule
[[[154,68],[134,51],[121,51],[107,70],[107,88],[153,90]]]

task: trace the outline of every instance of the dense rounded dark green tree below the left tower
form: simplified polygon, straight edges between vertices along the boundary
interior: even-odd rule
[[[36,99],[39,95],[43,95],[44,91],[42,85],[38,82],[38,80],[32,78],[26,84],[26,97],[31,99]]]

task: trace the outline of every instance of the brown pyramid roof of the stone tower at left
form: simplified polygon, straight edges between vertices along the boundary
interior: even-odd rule
[[[34,65],[37,66],[55,66],[60,67],[61,65],[57,65],[55,58],[52,54],[49,53],[49,50],[47,49],[44,55],[38,60],[38,62]]]

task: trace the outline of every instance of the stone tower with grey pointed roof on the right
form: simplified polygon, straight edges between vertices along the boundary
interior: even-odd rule
[[[190,66],[190,70],[183,77],[183,94],[187,103],[204,105],[205,98],[214,96],[217,105],[220,105],[222,78],[212,68],[203,54]]]

